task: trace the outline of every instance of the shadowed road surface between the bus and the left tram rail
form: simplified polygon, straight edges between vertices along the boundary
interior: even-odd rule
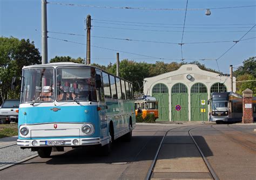
[[[2,170],[0,179],[144,179],[165,130],[138,125],[132,141],[117,141],[107,157],[93,149],[67,148],[51,158],[36,157]]]

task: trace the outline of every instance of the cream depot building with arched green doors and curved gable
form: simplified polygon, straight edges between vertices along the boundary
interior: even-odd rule
[[[231,79],[187,64],[177,71],[145,78],[143,91],[158,100],[157,121],[208,121],[207,100],[212,92],[231,91]]]

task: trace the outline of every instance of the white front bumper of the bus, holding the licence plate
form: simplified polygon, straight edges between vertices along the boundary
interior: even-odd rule
[[[100,137],[90,137],[90,138],[68,138],[68,139],[36,139],[36,140],[25,140],[18,139],[17,146],[19,147],[74,147],[74,146],[91,146],[109,143],[109,138],[100,139]]]

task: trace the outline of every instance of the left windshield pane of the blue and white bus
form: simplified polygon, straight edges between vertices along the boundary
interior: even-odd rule
[[[53,72],[53,68],[24,70],[21,102],[53,101]]]

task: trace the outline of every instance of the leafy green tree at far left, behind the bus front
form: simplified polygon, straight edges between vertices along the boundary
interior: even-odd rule
[[[1,99],[19,98],[22,67],[41,64],[41,56],[34,42],[29,39],[0,37],[0,79],[2,81]],[[17,77],[17,87],[11,91],[12,77]]]

